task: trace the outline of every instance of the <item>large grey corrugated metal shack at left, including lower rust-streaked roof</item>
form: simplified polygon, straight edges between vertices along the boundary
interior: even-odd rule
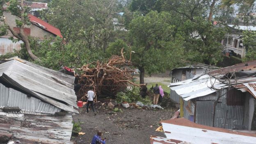
[[[74,80],[23,59],[0,64],[0,135],[10,133],[24,144],[73,144],[71,113],[78,113]],[[4,107],[20,111],[7,113]]]

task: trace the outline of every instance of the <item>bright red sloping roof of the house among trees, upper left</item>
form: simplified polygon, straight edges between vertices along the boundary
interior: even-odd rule
[[[49,23],[46,23],[45,21],[43,21],[43,20],[41,20],[41,19],[31,15],[31,14],[29,14],[28,17],[30,18],[30,22],[33,25],[37,25],[41,29],[46,30],[46,31],[48,31],[52,34],[55,34],[55,35],[63,38],[60,30],[57,27],[55,27],[53,25],[50,25]]]

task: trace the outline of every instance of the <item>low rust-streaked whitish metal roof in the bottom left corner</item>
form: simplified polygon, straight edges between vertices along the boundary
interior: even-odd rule
[[[72,116],[10,114],[0,111],[0,133],[11,133],[21,144],[73,144]]]

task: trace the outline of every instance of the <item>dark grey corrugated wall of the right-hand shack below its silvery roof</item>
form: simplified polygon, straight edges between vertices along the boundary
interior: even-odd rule
[[[238,91],[238,90],[236,90]],[[217,93],[215,98],[217,97]],[[226,101],[226,89],[223,89],[219,92],[220,95],[223,95],[215,108],[215,121],[214,126],[218,128],[227,128],[227,129],[248,129],[249,122],[243,123],[244,120],[244,106],[243,105],[227,105]],[[210,94],[213,95],[213,94]],[[195,122],[203,124],[206,126],[213,126],[213,110],[214,110],[214,101],[210,99],[213,96],[204,96],[200,97],[196,101],[196,112],[195,112]]]

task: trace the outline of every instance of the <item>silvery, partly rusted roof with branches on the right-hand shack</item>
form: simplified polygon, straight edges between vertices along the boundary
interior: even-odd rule
[[[208,72],[181,82],[170,83],[171,90],[176,91],[185,101],[206,96],[232,85],[242,92],[250,92],[256,98],[256,60],[235,64]]]

